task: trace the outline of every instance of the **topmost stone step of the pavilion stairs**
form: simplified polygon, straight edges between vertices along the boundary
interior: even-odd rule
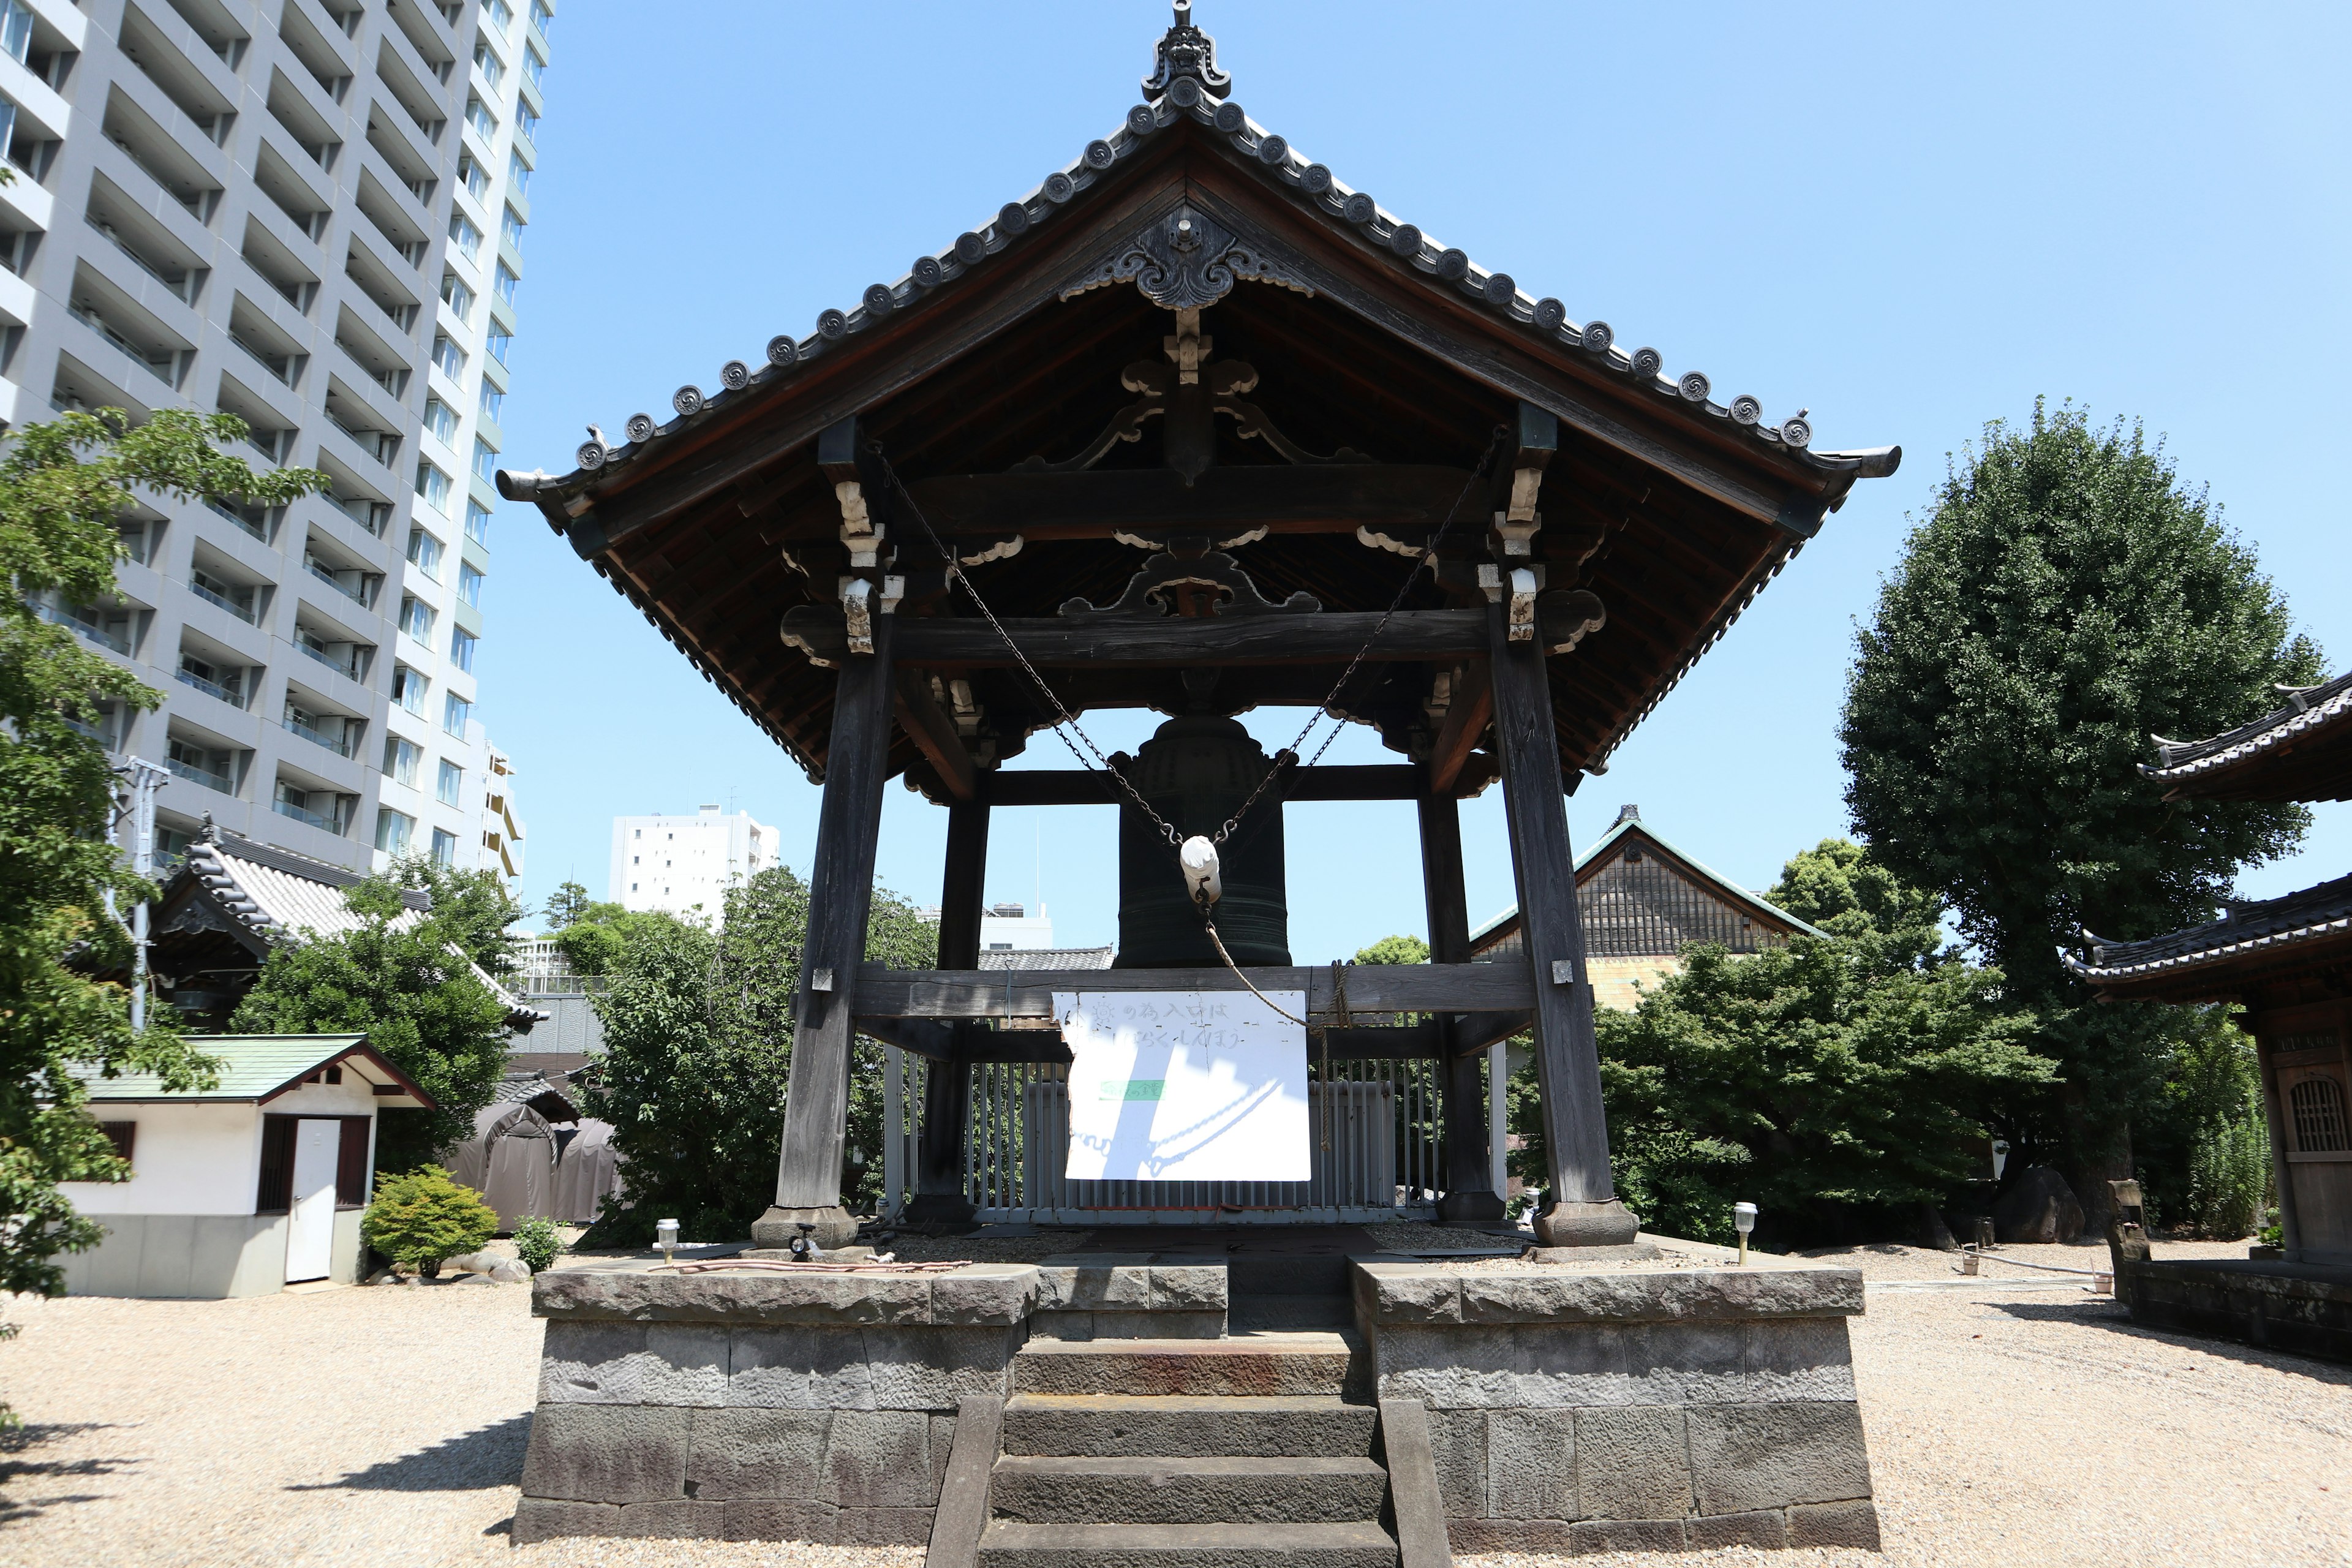
[[[1030,1340],[1016,1394],[1341,1394],[1350,1347],[1336,1333],[1225,1340]]]

